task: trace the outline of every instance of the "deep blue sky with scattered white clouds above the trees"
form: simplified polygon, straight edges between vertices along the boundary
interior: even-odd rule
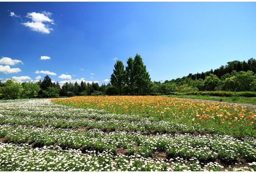
[[[0,2],[0,80],[107,84],[138,53],[152,81],[256,59],[255,2]]]

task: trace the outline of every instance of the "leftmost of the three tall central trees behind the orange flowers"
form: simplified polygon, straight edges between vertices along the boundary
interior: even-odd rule
[[[122,95],[122,87],[125,84],[125,71],[122,61],[117,60],[117,63],[114,65],[113,73],[110,77],[111,85],[116,86],[119,89],[120,95]]]

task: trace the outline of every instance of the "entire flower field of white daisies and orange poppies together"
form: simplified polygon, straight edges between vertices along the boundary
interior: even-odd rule
[[[0,170],[256,171],[255,119],[159,96],[0,102]]]

